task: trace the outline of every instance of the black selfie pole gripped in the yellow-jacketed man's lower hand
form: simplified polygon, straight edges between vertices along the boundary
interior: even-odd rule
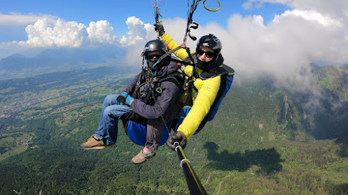
[[[177,155],[179,156],[180,166],[182,167],[182,171],[184,171],[184,175],[186,178],[187,186],[189,187],[189,191],[191,195],[207,195],[203,185],[200,183],[200,180],[196,176],[195,171],[193,171],[190,161],[186,158],[184,151],[178,142],[174,143],[175,151],[177,151]]]

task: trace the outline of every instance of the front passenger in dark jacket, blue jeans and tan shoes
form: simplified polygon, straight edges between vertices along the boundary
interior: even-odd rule
[[[122,119],[141,121],[146,126],[145,147],[132,158],[132,162],[139,164],[155,155],[164,122],[171,120],[171,108],[181,90],[178,78],[171,76],[179,69],[177,63],[171,61],[171,56],[159,61],[166,52],[166,44],[160,40],[145,44],[142,56],[148,66],[122,94],[106,96],[97,131],[80,145],[82,149],[104,149],[116,144],[118,120]]]

